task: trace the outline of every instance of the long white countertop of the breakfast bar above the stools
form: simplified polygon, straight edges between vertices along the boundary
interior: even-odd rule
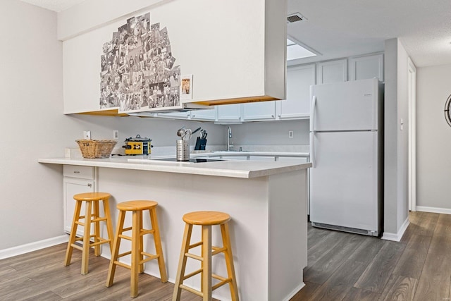
[[[232,152],[226,152],[226,154]],[[235,152],[236,153],[236,152]],[[251,152],[245,152],[251,153]],[[218,154],[218,152],[213,153]],[[261,152],[259,152],[261,154]],[[271,153],[274,155],[274,153]],[[291,153],[292,154],[292,153]],[[192,157],[199,156],[194,155]],[[206,156],[202,153],[202,156]],[[144,159],[144,156],[140,156]],[[145,156],[148,157],[148,156]],[[161,158],[161,156],[159,156]],[[134,156],[137,158],[137,156]],[[156,157],[154,157],[156,158]],[[123,168],[141,171],[160,171],[165,173],[190,173],[193,175],[222,176],[231,178],[258,178],[278,173],[287,173],[311,167],[311,163],[299,164],[289,161],[214,161],[205,163],[169,162],[152,160],[132,160],[130,156],[112,156],[106,159],[85,158],[42,158],[39,163]]]

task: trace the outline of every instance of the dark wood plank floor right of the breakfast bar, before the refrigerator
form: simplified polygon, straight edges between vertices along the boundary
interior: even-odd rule
[[[450,299],[451,215],[412,212],[401,242],[309,228],[299,300]]]

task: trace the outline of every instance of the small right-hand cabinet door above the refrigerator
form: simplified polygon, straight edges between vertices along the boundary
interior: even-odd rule
[[[378,78],[383,82],[383,54],[350,59],[350,80]]]

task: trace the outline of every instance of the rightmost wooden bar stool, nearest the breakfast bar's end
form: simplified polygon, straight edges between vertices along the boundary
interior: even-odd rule
[[[238,301],[238,288],[235,278],[235,268],[233,267],[233,254],[232,247],[230,246],[230,237],[228,231],[228,221],[230,221],[230,216],[226,213],[218,211],[196,211],[185,214],[183,216],[183,221],[185,221],[185,233],[183,234],[182,251],[180,252],[180,260],[178,262],[177,278],[175,278],[175,287],[172,300],[180,300],[182,289],[188,290],[191,293],[201,296],[204,301],[211,300],[211,292],[213,290],[216,290],[216,288],[229,283],[232,300]],[[190,245],[193,225],[202,226],[202,240]],[[223,247],[211,246],[211,226],[214,225],[221,225]],[[193,247],[199,247],[200,245],[202,245],[202,256],[199,257],[197,255],[189,253],[190,249],[192,249]],[[224,257],[226,258],[228,278],[223,278],[211,273],[211,257],[221,252],[224,253]],[[185,275],[187,257],[199,260],[201,262],[201,268],[197,271]],[[185,279],[199,273],[201,274],[200,292],[186,285],[183,285],[183,281]],[[220,282],[212,285],[211,278],[216,278]]]

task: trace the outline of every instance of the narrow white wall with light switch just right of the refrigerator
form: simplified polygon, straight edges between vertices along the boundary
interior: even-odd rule
[[[408,219],[407,52],[398,39],[385,41],[384,233],[397,235]],[[400,130],[400,119],[404,130]]]

